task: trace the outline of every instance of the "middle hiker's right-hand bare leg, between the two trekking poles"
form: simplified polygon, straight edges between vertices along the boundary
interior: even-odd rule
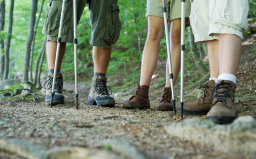
[[[185,19],[185,26],[188,18]],[[174,19],[171,21],[170,29],[170,51],[171,51],[171,69],[174,74],[173,82],[175,84],[178,74],[180,72],[180,42],[181,42],[181,19]],[[169,78],[169,64],[166,62],[166,81],[165,87],[171,87]]]

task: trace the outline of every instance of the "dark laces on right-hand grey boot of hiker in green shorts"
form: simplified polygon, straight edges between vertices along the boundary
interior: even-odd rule
[[[103,79],[96,79],[95,85],[94,85],[95,91],[101,95],[111,95],[112,90],[110,87],[106,85],[106,80]],[[111,91],[111,93],[108,93],[108,89]],[[93,91],[93,93],[95,92]]]

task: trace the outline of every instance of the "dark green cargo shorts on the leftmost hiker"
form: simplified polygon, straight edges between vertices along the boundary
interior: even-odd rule
[[[111,48],[118,40],[121,31],[118,0],[77,0],[77,23],[82,16],[85,5],[90,10],[91,39],[90,44],[96,47]],[[61,19],[62,0],[52,0],[43,25],[43,34],[48,41],[57,41]],[[73,0],[67,0],[61,42],[73,43]],[[79,38],[79,37],[78,37]]]

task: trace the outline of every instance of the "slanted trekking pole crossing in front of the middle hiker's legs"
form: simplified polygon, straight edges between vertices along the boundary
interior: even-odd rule
[[[168,55],[168,65],[169,65],[169,78],[171,81],[171,102],[174,108],[174,115],[176,115],[176,106],[175,106],[175,99],[174,99],[174,83],[173,83],[173,73],[171,69],[171,54],[170,54],[170,46],[169,46],[169,31],[167,25],[167,15],[166,15],[166,5],[165,0],[162,0],[163,4],[163,15],[164,15],[164,23],[165,23],[165,37],[166,37],[166,45],[167,45],[167,55]]]

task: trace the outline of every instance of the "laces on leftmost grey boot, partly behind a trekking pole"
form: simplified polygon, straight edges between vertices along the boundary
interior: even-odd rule
[[[48,80],[43,84],[43,88],[44,89],[52,89],[52,82],[53,82],[53,77],[52,76],[48,76]],[[60,77],[56,78],[55,80],[55,85],[54,85],[54,92],[55,93],[62,93],[62,83],[63,83],[63,80]]]

